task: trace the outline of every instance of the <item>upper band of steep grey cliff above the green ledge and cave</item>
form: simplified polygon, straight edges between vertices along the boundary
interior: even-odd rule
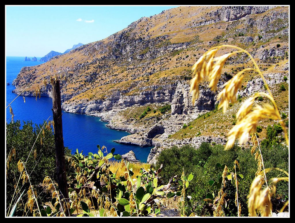
[[[126,91],[114,91],[112,95],[105,100],[95,100],[84,102],[81,104],[64,104],[63,110],[71,113],[85,113],[102,117],[104,121],[110,121],[117,112],[124,108],[138,105],[146,105],[148,103],[171,103],[172,115],[189,115],[192,119],[196,118],[200,113],[212,110],[214,108],[213,93],[209,88],[202,87],[200,89],[200,97],[196,100],[195,105],[191,103],[191,93],[189,92],[189,84],[185,81],[169,85],[152,85],[140,87],[137,95],[126,95]],[[111,127],[109,124],[108,127]]]

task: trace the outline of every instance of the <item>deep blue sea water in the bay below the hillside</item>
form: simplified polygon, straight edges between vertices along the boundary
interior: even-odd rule
[[[30,57],[32,58],[32,56]],[[38,60],[40,58],[37,58]],[[24,66],[35,66],[43,62],[24,61],[24,57],[7,56],[6,57],[6,106],[17,96],[12,93],[15,87],[12,81],[17,77],[17,74]],[[26,103],[22,96],[19,96],[11,104],[14,120],[32,120],[35,124],[41,124],[44,120],[52,120],[52,99],[41,97],[25,97]],[[64,145],[72,150],[72,153],[83,150],[83,154],[88,152],[97,153],[96,145],[105,145],[108,151],[115,147],[116,153],[124,154],[133,150],[135,156],[141,162],[146,162],[148,154],[152,147],[139,147],[133,145],[123,145],[113,140],[119,140],[123,136],[130,133],[118,130],[112,130],[105,126],[106,122],[102,122],[100,118],[89,115],[73,114],[63,111],[63,138]],[[9,108],[6,109],[6,122],[11,121]]]

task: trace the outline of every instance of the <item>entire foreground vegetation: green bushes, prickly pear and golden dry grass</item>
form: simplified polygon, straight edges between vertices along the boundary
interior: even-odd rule
[[[215,57],[223,47],[237,51]],[[226,112],[233,106],[245,71],[258,73],[267,93],[258,92],[241,100],[242,105],[232,115],[235,125],[227,134],[225,146],[202,143],[197,150],[190,145],[164,149],[157,168],[141,168],[135,178],[133,167],[115,154],[115,148],[107,151],[97,145],[97,153],[87,155],[78,150],[72,155],[65,149],[71,202],[63,202],[55,186],[52,123],[45,122],[35,129],[29,122],[22,129],[19,121],[6,124],[6,215],[156,216],[160,215],[159,200],[175,197],[180,197],[182,216],[272,216],[273,211],[287,209],[289,140],[285,124],[289,121],[283,120],[286,117],[280,114],[252,56],[229,45],[216,46],[204,53],[192,68],[195,74],[191,81],[192,103],[198,98],[203,79],[208,78],[211,90],[217,90],[224,63],[237,53],[247,54],[255,68],[243,68],[224,84],[218,95],[219,104],[212,113],[221,112],[218,109]],[[281,85],[280,90],[286,91],[282,86],[285,88]],[[265,101],[261,106],[255,105],[259,97],[263,100],[258,101]],[[171,109],[169,106],[164,105],[160,112],[164,114]],[[154,113],[150,107],[145,111]],[[210,113],[201,117],[208,118]],[[265,118],[275,120],[276,124],[268,125],[266,139],[260,141],[257,122]],[[183,130],[192,129],[191,125],[186,127]],[[250,134],[250,146],[237,145],[237,140],[241,146],[246,144]],[[121,160],[117,170],[111,170],[111,159]]]

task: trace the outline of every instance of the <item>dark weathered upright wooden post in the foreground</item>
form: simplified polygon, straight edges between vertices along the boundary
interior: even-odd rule
[[[65,202],[69,202],[67,174],[65,171],[65,147],[63,145],[63,123],[61,119],[61,99],[59,80],[53,81],[52,84],[52,111],[54,121],[54,140],[55,140],[55,160],[58,178],[58,190],[60,194],[61,210],[64,209]],[[69,210],[63,211],[69,216]]]

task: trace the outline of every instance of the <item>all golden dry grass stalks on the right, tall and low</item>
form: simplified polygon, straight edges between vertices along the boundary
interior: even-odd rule
[[[221,48],[232,48],[235,51],[231,51],[230,53],[226,53],[222,56],[215,57],[215,54]],[[286,172],[284,169],[278,167],[265,167],[265,162],[263,160],[263,153],[261,146],[266,145],[268,140],[273,140],[276,136],[277,132],[283,132],[285,141],[283,142],[288,147],[288,154],[289,154],[289,139],[287,129],[285,127],[285,122],[281,119],[280,112],[274,100],[274,97],[271,93],[271,90],[268,87],[268,84],[261,73],[257,63],[250,55],[250,53],[240,47],[231,46],[231,45],[221,45],[210,48],[206,53],[204,53],[199,60],[194,64],[192,71],[195,74],[194,78],[191,81],[191,92],[193,93],[192,103],[194,104],[195,100],[199,97],[199,85],[203,81],[204,78],[208,78],[209,80],[209,88],[212,91],[217,91],[217,83],[221,77],[222,67],[226,63],[227,59],[231,56],[245,53],[247,57],[250,58],[250,61],[253,63],[254,68],[244,68],[243,70],[239,71],[238,73],[233,76],[229,81],[224,83],[223,90],[219,92],[217,96],[217,100],[220,100],[218,109],[222,108],[223,113],[226,112],[227,108],[229,108],[230,103],[235,102],[237,100],[236,95],[238,90],[241,88],[241,83],[243,79],[243,73],[246,71],[254,71],[258,73],[262,81],[264,82],[266,92],[258,92],[251,95],[244,103],[240,106],[240,109],[237,111],[236,114],[236,121],[234,127],[227,133],[227,142],[225,145],[225,150],[230,150],[234,145],[235,141],[238,140],[240,145],[243,145],[248,142],[248,138],[251,135],[252,145],[251,145],[251,155],[255,155],[255,160],[258,161],[257,164],[257,171],[255,173],[255,178],[251,183],[250,192],[247,196],[248,198],[248,212],[249,216],[272,216],[272,202],[271,197],[276,194],[276,188],[278,186],[278,182],[286,181],[289,184],[289,173]],[[215,62],[215,63],[214,63]],[[282,85],[283,86],[283,85]],[[281,88],[282,88],[281,86]],[[282,90],[282,89],[281,89]],[[285,89],[286,90],[286,89]],[[256,104],[255,99],[259,97],[264,97],[268,100],[268,102],[263,103],[262,106]],[[255,106],[254,106],[255,105]],[[278,124],[274,125],[274,128],[268,128],[269,135],[266,139],[266,142],[261,144],[258,141],[256,135],[256,127],[259,120],[262,119],[271,119],[276,120]],[[269,147],[267,147],[269,149]],[[286,150],[287,150],[286,148]],[[236,160],[235,160],[236,164]],[[238,163],[237,163],[238,165]],[[222,167],[222,180],[219,183],[221,184],[220,190],[218,192],[218,196],[214,198],[213,196],[206,195],[206,199],[209,202],[213,203],[215,210],[213,212],[214,216],[225,216],[224,208],[221,205],[226,204],[223,200],[227,193],[224,193],[225,184],[225,175],[228,172],[227,165],[217,165]],[[239,165],[238,165],[239,166]],[[239,167],[240,169],[240,167]],[[289,168],[288,168],[289,169]],[[286,170],[288,170],[286,169]],[[268,178],[266,174],[268,172],[273,172],[274,170],[278,170],[280,175]],[[281,177],[281,175],[283,175]],[[233,178],[234,177],[234,178]],[[232,175],[231,179],[235,179],[236,184],[236,193],[235,193],[235,205],[237,207],[237,216],[240,216],[241,209],[238,202],[238,183],[237,183],[237,175],[236,170],[235,174]],[[218,184],[218,183],[217,183]],[[210,185],[214,185],[214,183],[210,183]],[[217,199],[216,199],[217,198]],[[289,204],[289,200],[285,202],[281,212],[286,208]],[[226,205],[225,205],[226,207]]]

